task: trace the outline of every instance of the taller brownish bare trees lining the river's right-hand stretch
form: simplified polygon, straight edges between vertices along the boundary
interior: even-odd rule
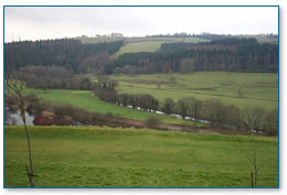
[[[234,105],[223,105],[220,99],[200,100],[194,97],[181,98],[177,102],[168,98],[161,109],[164,113],[178,113],[183,119],[190,117],[198,121],[205,120],[213,127],[278,134],[278,109],[266,113],[258,107],[241,109]]]

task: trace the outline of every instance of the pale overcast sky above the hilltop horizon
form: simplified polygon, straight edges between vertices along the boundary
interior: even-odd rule
[[[6,42],[176,32],[216,34],[278,33],[276,7],[7,7]]]

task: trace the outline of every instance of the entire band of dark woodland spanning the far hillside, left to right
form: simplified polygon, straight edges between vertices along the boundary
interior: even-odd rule
[[[125,53],[114,58],[111,55],[123,45],[123,41],[82,44],[72,39],[13,42],[6,44],[4,57],[6,63],[20,67],[55,65],[96,74],[278,71],[278,45],[261,44],[253,37],[166,43],[156,53]]]

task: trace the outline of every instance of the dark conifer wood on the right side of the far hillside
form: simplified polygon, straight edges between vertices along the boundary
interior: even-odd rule
[[[180,72],[192,59],[192,71],[277,72],[278,45],[256,39],[226,39],[205,43],[164,43],[156,53],[125,53],[105,66],[106,74],[127,66],[134,73]]]

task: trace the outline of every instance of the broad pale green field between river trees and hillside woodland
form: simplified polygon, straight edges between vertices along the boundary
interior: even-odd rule
[[[113,75],[119,82],[119,94],[150,94],[161,102],[195,97],[221,99],[225,105],[262,107],[270,111],[278,107],[278,74],[195,72],[193,74]],[[158,83],[161,83],[160,89]],[[238,97],[242,89],[243,97]]]

